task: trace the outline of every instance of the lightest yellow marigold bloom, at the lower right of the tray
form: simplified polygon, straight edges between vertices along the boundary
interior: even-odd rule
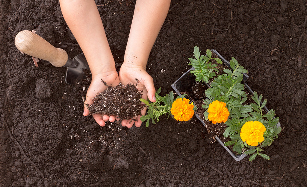
[[[258,142],[264,140],[263,133],[266,128],[259,121],[247,121],[241,128],[241,139],[246,142],[247,145],[257,146]]]

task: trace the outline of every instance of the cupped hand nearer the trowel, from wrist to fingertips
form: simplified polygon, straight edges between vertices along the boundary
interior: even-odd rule
[[[111,72],[106,72],[102,74],[97,74],[93,76],[91,85],[87,89],[86,93],[86,99],[85,103],[88,105],[93,104],[94,100],[91,98],[95,97],[97,93],[103,92],[104,90],[107,89],[107,86],[103,84],[101,79],[107,83],[107,86],[117,86],[119,85],[119,77],[116,71],[111,71]],[[84,112],[83,115],[87,116],[89,113],[87,107],[84,104]],[[101,114],[94,114],[93,115],[94,119],[100,126],[105,126],[106,122],[109,120],[110,122],[114,122],[115,120],[119,120],[117,116],[108,116],[108,115],[101,115]]]

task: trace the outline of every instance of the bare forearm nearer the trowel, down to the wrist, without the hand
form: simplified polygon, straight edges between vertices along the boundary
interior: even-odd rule
[[[60,0],[63,17],[88,61],[92,76],[115,71],[106,33],[94,0]]]

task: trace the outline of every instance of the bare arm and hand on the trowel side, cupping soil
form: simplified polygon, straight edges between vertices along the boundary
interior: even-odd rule
[[[91,105],[93,103],[91,98],[106,89],[101,79],[109,86],[119,84],[114,58],[94,0],[60,0],[60,6],[63,17],[84,52],[91,69],[92,81],[85,100]],[[83,115],[88,115],[86,107]],[[102,117],[96,114],[93,117],[101,126],[109,120],[107,115]],[[110,116],[110,121],[114,120],[115,116]]]

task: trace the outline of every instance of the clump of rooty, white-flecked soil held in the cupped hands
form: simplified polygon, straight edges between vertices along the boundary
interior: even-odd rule
[[[116,115],[120,119],[129,120],[141,115],[141,110],[144,108],[141,105],[141,97],[142,91],[137,90],[133,84],[109,86],[104,92],[97,93],[93,98],[94,103],[87,105],[87,108],[90,115]]]

